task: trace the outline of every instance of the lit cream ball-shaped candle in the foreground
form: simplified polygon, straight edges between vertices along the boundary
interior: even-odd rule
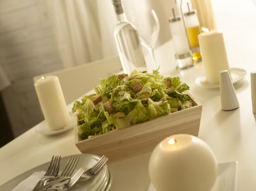
[[[217,178],[217,161],[204,141],[177,134],[155,147],[149,175],[157,191],[210,191]]]

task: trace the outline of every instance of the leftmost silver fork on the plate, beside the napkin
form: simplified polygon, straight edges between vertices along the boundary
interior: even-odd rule
[[[47,180],[54,179],[58,175],[59,168],[60,168],[60,156],[55,156],[55,157],[53,156],[51,158],[51,162],[46,173],[36,184],[33,191],[36,191],[37,189],[39,189],[42,185],[44,185],[44,182],[46,182]]]

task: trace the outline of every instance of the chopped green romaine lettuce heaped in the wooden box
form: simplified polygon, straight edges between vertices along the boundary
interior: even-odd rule
[[[171,80],[168,87],[167,79]],[[134,92],[130,86],[135,80],[142,85],[139,92]],[[79,117],[77,132],[84,139],[93,138],[190,108],[192,102],[185,90],[189,87],[181,83],[179,77],[164,78],[159,74],[159,68],[153,73],[134,70],[129,76],[122,75],[120,78],[116,74],[100,79],[99,86],[94,87],[95,94],[85,95],[82,102],[75,101],[73,105],[72,112],[77,111]],[[92,102],[90,99],[94,96],[101,96],[101,101]],[[106,106],[106,102],[111,104]],[[108,107],[112,107],[111,110]],[[112,117],[118,112],[123,112],[125,116]]]

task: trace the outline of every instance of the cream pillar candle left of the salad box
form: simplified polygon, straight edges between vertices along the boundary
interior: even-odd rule
[[[57,76],[42,77],[34,83],[43,116],[50,130],[63,129],[71,123],[60,81]]]

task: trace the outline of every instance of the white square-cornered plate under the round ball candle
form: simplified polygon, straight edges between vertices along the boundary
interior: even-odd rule
[[[211,191],[236,191],[237,190],[238,162],[218,163],[218,176]],[[157,191],[150,183],[147,191]]]

